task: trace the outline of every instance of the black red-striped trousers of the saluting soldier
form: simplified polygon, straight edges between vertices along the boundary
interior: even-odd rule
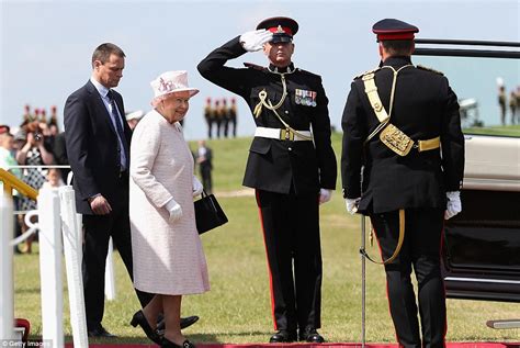
[[[319,328],[321,247],[318,194],[257,190],[269,262],[274,329]]]

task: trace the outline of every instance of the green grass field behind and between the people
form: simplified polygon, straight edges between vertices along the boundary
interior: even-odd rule
[[[338,159],[340,138],[340,134],[334,135]],[[217,197],[219,192],[241,189],[249,143],[250,138],[210,142],[215,157]],[[185,329],[185,334],[195,343],[265,343],[273,332],[273,324],[268,267],[255,198],[227,198],[223,194],[219,202],[229,223],[202,236],[212,289],[202,295],[184,296],[183,315],[201,316],[199,323]],[[339,191],[331,202],[321,206],[324,283],[320,333],[332,343],[361,340],[359,224],[359,217],[344,212]],[[370,252],[375,255],[375,248]],[[103,325],[120,336],[117,343],[148,343],[140,329],[128,324],[138,302],[118,255],[115,255],[115,261],[117,295],[115,301],[106,302]],[[16,256],[14,268],[15,315],[29,318],[33,334],[41,335],[37,252]],[[383,268],[368,263],[366,274],[366,338],[372,343],[395,343]],[[66,339],[70,341],[67,298],[64,303]],[[485,323],[518,317],[519,313],[520,304],[517,303],[448,300],[446,338],[449,341],[518,341],[520,329],[494,330]]]

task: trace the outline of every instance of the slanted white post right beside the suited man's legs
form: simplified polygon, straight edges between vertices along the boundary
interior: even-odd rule
[[[71,186],[61,187],[59,198],[74,347],[87,348],[89,347],[89,339],[87,337],[83,279],[81,274],[83,255],[81,214],[76,213],[75,192]]]

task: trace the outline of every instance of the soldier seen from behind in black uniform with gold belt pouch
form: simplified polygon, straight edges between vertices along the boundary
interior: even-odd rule
[[[441,72],[411,64],[416,26],[386,19],[372,30],[382,61],[354,79],[344,106],[343,197],[350,213],[370,215],[399,345],[444,347],[441,236],[462,210],[464,171],[457,98]]]

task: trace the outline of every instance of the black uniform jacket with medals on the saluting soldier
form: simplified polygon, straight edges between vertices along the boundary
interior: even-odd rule
[[[241,96],[251,112],[259,103],[258,93],[265,90],[273,105],[282,98],[281,76],[268,68],[231,68],[224,66],[228,59],[246,50],[238,37],[213,50],[197,69],[207,80]],[[291,64],[291,69],[293,66]],[[330,144],[328,99],[317,75],[294,69],[286,74],[287,97],[276,110],[294,130],[308,131],[312,125],[313,142],[289,142],[255,137],[249,149],[244,186],[278,193],[289,193],[291,184],[296,194],[317,193],[319,188],[335,189],[337,177],[336,156]],[[296,91],[298,90],[298,91]],[[315,92],[315,106],[296,103],[296,92]],[[284,128],[274,113],[262,108],[255,119],[257,126]]]

